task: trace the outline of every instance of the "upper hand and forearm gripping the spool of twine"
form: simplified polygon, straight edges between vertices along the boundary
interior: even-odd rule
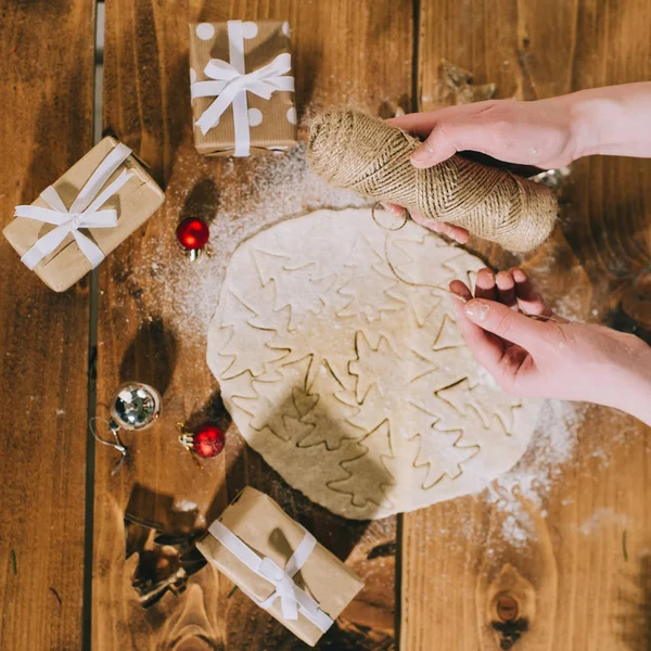
[[[488,100],[446,106],[431,113],[394,117],[388,124],[425,139],[411,156],[414,167],[432,167],[460,151],[488,154],[498,161],[550,169],[591,154],[651,156],[651,81],[580,90],[558,98],[519,102]],[[395,204],[385,206],[397,212]],[[468,231],[427,220],[418,224],[457,242]]]

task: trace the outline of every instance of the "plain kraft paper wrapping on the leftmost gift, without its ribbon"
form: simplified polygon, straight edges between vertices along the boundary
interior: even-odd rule
[[[52,183],[67,207],[73,204],[86,181],[117,144],[118,141],[114,138],[104,138]],[[80,229],[80,232],[94,241],[105,256],[141,227],[158,209],[164,200],[161,188],[133,155],[130,155],[120,165],[104,183],[104,188],[112,183],[124,169],[131,171],[131,177],[102,206],[117,209],[117,226],[115,228]],[[40,196],[31,205],[49,207]],[[16,217],[7,226],[3,234],[18,255],[23,256],[37,240],[53,228],[54,226],[42,221]],[[27,268],[25,269],[27,271]],[[84,278],[91,269],[90,260],[79,250],[73,235],[68,234],[53,253],[46,256],[34,268],[34,272],[50,289],[63,292]]]

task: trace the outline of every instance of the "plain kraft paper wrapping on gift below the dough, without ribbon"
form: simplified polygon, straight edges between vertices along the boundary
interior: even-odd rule
[[[235,497],[219,521],[259,556],[270,558],[280,567],[286,565],[305,535],[305,529],[276,501],[250,486]],[[264,600],[273,592],[269,582],[250,570],[209,533],[196,542],[196,547],[245,593]],[[294,583],[332,620],[336,620],[363,587],[363,583],[319,542],[294,576]],[[269,614],[310,646],[323,635],[302,613],[297,620],[283,620],[280,599],[273,601]]]

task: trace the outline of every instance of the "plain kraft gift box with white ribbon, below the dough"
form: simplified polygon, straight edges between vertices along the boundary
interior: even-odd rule
[[[314,646],[362,582],[269,496],[246,487],[197,549],[260,608]]]

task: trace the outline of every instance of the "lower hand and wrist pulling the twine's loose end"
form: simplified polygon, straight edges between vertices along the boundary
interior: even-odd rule
[[[460,280],[450,291],[465,343],[508,393],[598,403],[651,424],[651,347],[639,337],[556,317],[520,268],[482,269],[474,298]]]

